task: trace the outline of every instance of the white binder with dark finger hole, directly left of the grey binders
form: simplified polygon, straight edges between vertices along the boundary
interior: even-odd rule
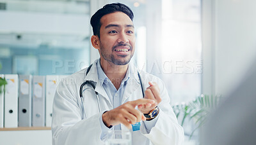
[[[4,93],[4,127],[18,127],[18,75],[5,74],[7,85]]]

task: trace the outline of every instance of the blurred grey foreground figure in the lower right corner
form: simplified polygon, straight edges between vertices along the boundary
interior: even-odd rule
[[[236,90],[209,118],[202,144],[256,144],[256,62]]]

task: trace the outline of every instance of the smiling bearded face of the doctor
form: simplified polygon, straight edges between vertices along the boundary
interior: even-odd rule
[[[104,15],[100,22],[100,57],[115,65],[128,64],[135,46],[131,18],[118,11]]]

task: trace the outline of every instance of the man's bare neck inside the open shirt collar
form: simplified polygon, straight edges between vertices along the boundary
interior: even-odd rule
[[[102,67],[102,70],[106,76],[108,76],[108,78],[111,80],[116,90],[118,90],[127,72],[128,64],[116,65],[112,62],[100,59],[100,66]]]

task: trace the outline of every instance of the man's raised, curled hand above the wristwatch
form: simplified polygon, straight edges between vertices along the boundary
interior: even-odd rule
[[[148,82],[150,86],[145,90],[145,99],[155,100],[154,104],[141,104],[138,106],[138,109],[141,113],[148,114],[152,109],[154,109],[161,101],[160,97],[160,88],[155,82]]]

